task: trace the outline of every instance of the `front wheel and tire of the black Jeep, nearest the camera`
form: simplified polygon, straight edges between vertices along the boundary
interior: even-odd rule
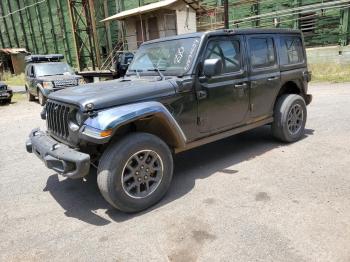
[[[172,176],[173,158],[169,147],[152,134],[132,133],[111,144],[103,153],[97,184],[108,203],[131,213],[160,201]]]

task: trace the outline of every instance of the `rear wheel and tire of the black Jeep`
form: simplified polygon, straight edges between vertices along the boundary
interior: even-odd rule
[[[305,100],[300,95],[281,96],[274,109],[273,136],[287,143],[300,140],[305,132],[306,118]]]

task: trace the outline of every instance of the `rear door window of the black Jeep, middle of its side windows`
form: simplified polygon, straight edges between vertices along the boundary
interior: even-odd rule
[[[249,48],[253,68],[271,67],[276,64],[272,38],[251,38],[249,39]]]

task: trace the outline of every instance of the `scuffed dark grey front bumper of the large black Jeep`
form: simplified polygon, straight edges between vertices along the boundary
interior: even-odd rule
[[[30,132],[28,153],[34,153],[47,168],[69,178],[81,178],[90,170],[90,156],[57,142],[40,129]]]

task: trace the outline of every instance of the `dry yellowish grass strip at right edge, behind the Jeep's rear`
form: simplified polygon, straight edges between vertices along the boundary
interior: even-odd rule
[[[350,66],[342,64],[310,64],[313,82],[350,82]]]

